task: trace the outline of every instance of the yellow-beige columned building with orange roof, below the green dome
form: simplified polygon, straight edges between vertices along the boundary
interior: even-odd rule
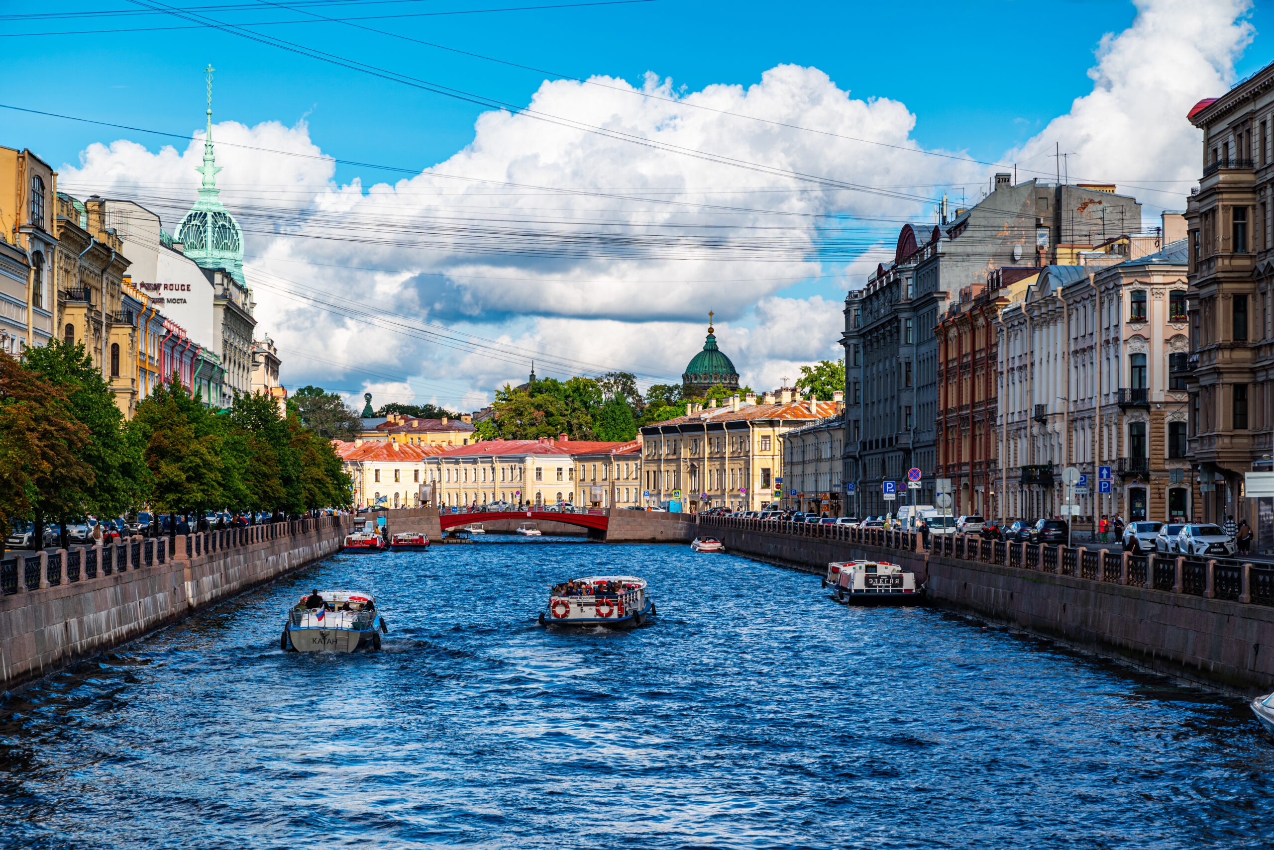
[[[726,506],[759,510],[777,503],[782,435],[834,416],[843,402],[801,400],[792,389],[687,405],[685,416],[641,429],[648,505],[694,513]]]

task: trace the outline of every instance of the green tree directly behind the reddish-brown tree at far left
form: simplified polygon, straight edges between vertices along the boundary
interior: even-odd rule
[[[92,477],[79,486],[68,482],[36,506],[59,523],[61,546],[68,546],[68,522],[85,514],[118,517],[134,504],[139,495],[134,481],[140,457],[125,440],[124,414],[83,342],[68,345],[51,340],[48,345],[28,349],[23,363],[65,393],[68,410],[89,434],[79,457],[93,471]]]

